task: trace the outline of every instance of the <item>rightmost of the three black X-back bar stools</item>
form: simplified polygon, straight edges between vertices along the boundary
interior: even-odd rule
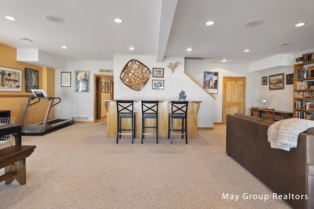
[[[173,141],[173,135],[185,135],[185,143],[187,143],[187,126],[186,126],[186,120],[187,120],[187,101],[172,101],[171,102],[171,113],[169,113],[168,116],[168,139],[170,137],[171,132],[171,143]],[[174,119],[181,119],[181,129],[174,129],[173,127],[173,120]],[[180,131],[181,133],[174,133]]]

